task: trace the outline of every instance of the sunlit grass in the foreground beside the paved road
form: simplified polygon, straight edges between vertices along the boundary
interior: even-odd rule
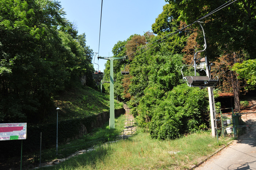
[[[225,145],[208,132],[159,141],[140,129],[128,140],[103,145],[44,170],[189,169]]]

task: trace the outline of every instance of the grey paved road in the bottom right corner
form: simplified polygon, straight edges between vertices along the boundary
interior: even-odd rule
[[[256,170],[256,140],[237,140],[195,170]]]

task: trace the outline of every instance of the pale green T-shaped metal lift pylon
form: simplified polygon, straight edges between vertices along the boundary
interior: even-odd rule
[[[110,100],[110,106],[109,106],[109,128],[114,129],[115,128],[115,110],[114,110],[114,60],[123,60],[126,59],[127,56],[124,57],[98,57],[101,59],[109,60],[110,61],[110,94],[109,94],[109,100]]]

